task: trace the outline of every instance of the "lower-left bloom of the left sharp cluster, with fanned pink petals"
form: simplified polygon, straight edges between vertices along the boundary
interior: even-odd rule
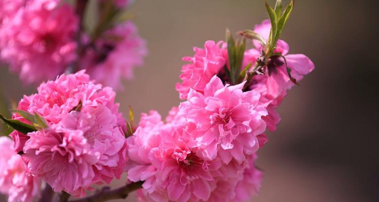
[[[92,165],[101,154],[91,153],[83,131],[54,126],[28,135],[24,153],[30,173],[41,177],[54,191],[84,195],[95,177]]]

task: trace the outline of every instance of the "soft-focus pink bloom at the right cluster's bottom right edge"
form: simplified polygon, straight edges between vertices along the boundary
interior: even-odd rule
[[[257,155],[253,154],[244,162],[243,179],[238,182],[235,188],[235,198],[233,201],[246,201],[253,195],[257,195],[262,182],[262,172],[255,167]]]

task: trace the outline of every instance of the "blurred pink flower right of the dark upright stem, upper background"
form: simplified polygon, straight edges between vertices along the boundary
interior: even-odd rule
[[[114,88],[121,88],[121,77],[132,79],[134,67],[143,65],[148,54],[145,40],[130,21],[107,31],[95,46],[88,49],[81,67],[91,78]]]

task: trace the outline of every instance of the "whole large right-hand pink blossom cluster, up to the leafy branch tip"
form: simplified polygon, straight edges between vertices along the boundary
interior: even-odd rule
[[[266,39],[269,21],[255,27]],[[260,57],[262,45],[245,52],[244,68]],[[128,142],[128,179],[144,181],[140,201],[244,201],[259,190],[262,173],[256,152],[267,142],[266,128],[275,130],[275,109],[294,85],[282,58],[270,58],[263,75],[230,85],[226,44],[207,41],[194,48],[182,68],[180,98],[166,123],[155,112],[143,114]],[[287,55],[279,40],[275,53],[286,57],[295,79],[314,69],[304,55]]]

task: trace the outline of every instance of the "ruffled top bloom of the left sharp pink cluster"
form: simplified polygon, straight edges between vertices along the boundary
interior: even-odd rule
[[[115,92],[109,87],[102,87],[90,81],[89,76],[79,71],[75,74],[61,75],[55,81],[42,83],[36,94],[24,95],[20,100],[18,110],[29,113],[37,112],[49,123],[57,124],[79,103],[86,106],[106,106],[122,121],[118,112],[119,104],[114,103]],[[24,120],[18,114],[14,119]]]

